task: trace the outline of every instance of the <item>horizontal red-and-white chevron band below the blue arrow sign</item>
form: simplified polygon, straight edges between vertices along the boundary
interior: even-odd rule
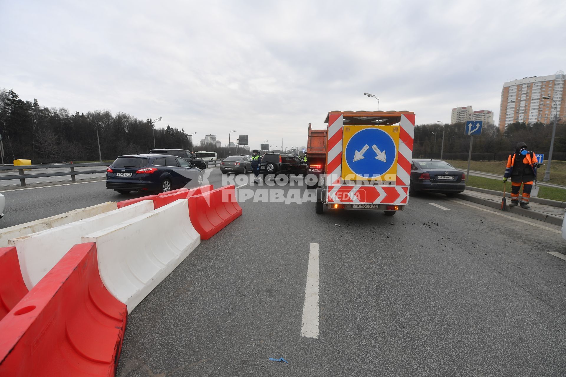
[[[406,204],[409,187],[379,185],[330,185],[329,203]]]

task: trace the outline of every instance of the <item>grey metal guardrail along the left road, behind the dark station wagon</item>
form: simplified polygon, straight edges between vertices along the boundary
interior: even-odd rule
[[[214,166],[216,167],[217,163],[219,164],[222,160],[213,160],[213,161],[205,161],[207,167]],[[79,174],[98,174],[98,173],[105,173],[106,169],[104,170],[79,170],[75,171],[76,167],[85,167],[85,166],[105,166],[109,167],[112,162],[106,163],[80,163],[80,164],[70,164],[70,163],[61,163],[61,164],[36,164],[36,165],[17,165],[17,166],[0,166],[0,172],[8,171],[8,170],[18,170],[19,174],[12,174],[12,175],[2,175],[0,174],[0,181],[12,180],[12,179],[19,179],[20,185],[25,187],[25,180],[30,178],[44,178],[44,177],[59,177],[59,176],[71,176],[71,181],[74,182],[75,176]],[[70,171],[60,171],[60,172],[53,172],[53,173],[41,173],[41,174],[24,174],[24,171],[33,170],[33,169],[50,169],[50,168],[62,168],[68,167]]]

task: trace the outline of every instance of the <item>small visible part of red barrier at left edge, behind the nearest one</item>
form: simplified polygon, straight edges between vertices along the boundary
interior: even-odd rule
[[[16,248],[0,248],[0,319],[27,293]]]

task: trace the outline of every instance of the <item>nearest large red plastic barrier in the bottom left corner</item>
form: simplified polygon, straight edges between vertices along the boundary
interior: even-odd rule
[[[0,376],[114,376],[127,309],[97,263],[96,244],[73,246],[0,321]]]

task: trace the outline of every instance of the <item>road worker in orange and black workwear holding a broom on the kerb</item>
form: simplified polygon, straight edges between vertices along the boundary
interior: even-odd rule
[[[533,151],[527,150],[527,145],[520,141],[517,143],[515,153],[510,154],[507,159],[507,167],[503,182],[507,182],[511,178],[511,204],[515,207],[521,205],[521,208],[529,209],[529,198],[531,189],[533,189],[533,181],[537,179],[537,168],[541,167],[541,163],[537,161],[537,155]],[[519,199],[519,191],[523,185],[521,199]]]

